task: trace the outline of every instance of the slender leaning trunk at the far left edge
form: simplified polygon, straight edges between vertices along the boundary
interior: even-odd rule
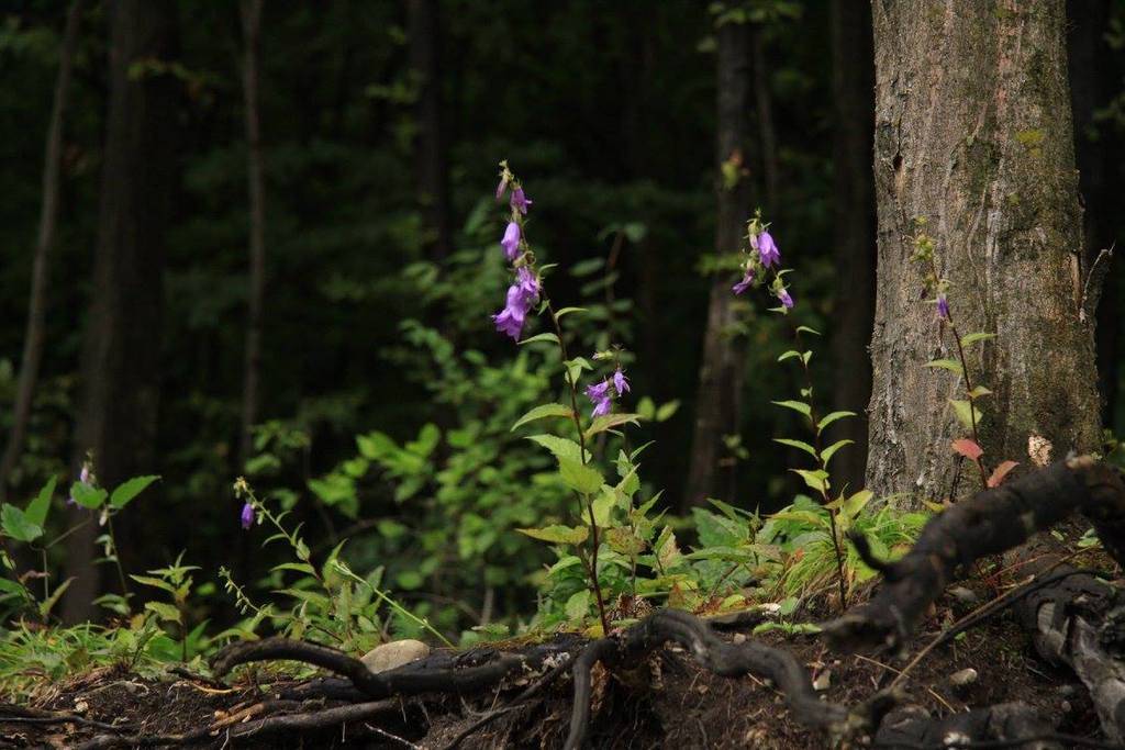
[[[51,124],[47,126],[46,154],[43,160],[43,207],[39,211],[39,233],[35,242],[32,293],[27,302],[27,329],[24,334],[24,358],[20,360],[19,380],[16,385],[11,433],[8,435],[3,458],[0,459],[0,501],[7,497],[8,479],[24,450],[24,435],[32,417],[35,385],[38,382],[39,362],[43,359],[47,317],[47,279],[51,273],[51,253],[54,250],[55,235],[58,229],[63,126],[66,123],[71,70],[74,63],[74,48],[78,46],[78,26],[81,17],[82,0],[74,0],[66,15],[66,28],[63,31],[62,48],[58,52],[55,98],[51,108]]]

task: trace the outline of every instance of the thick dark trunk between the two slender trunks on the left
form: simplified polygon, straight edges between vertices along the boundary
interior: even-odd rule
[[[159,395],[164,234],[176,169],[176,92],[171,75],[134,63],[176,51],[176,3],[109,3],[109,110],[102,165],[92,299],[82,346],[78,462],[92,451],[101,485],[152,473]],[[129,508],[142,512],[143,504]],[[75,518],[87,512],[75,510]],[[92,613],[99,581],[90,523],[68,540],[64,617]],[[128,540],[119,539],[123,549]],[[138,548],[140,540],[133,544]]]

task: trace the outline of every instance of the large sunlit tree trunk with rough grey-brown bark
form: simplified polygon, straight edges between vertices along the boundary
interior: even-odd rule
[[[997,334],[969,351],[973,385],[993,391],[979,401],[986,462],[1026,460],[1032,435],[1056,457],[1097,449],[1062,0],[872,8],[879,288],[868,487],[945,495],[951,441],[966,432],[947,405],[965,398],[964,385],[924,367],[957,353],[920,299],[919,234],[950,280],[960,333]]]

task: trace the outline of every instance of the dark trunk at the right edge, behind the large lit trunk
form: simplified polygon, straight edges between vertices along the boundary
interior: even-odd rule
[[[1079,187],[1086,211],[1086,260],[1092,263],[1104,247],[1114,243],[1113,201],[1119,195],[1117,165],[1119,150],[1109,133],[1097,134],[1095,111],[1105,107],[1106,74],[1113,58],[1106,42],[1109,28],[1107,0],[1071,0],[1066,3],[1069,28],[1070,99],[1074,112],[1074,152],[1078,159]],[[1110,83],[1116,83],[1110,79]],[[1120,253],[1105,277],[1095,333],[1098,352],[1098,390],[1102,418],[1113,422],[1117,403],[1117,337],[1120,331],[1117,301],[1117,268]]]

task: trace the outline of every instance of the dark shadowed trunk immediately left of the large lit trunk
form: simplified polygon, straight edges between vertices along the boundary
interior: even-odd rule
[[[837,484],[863,487],[867,466],[871,358],[867,344],[875,318],[875,184],[871,170],[875,119],[875,61],[871,4],[832,0],[832,247],[836,306],[832,310],[834,409],[860,414],[832,427],[832,440],[855,441],[836,454]]]

